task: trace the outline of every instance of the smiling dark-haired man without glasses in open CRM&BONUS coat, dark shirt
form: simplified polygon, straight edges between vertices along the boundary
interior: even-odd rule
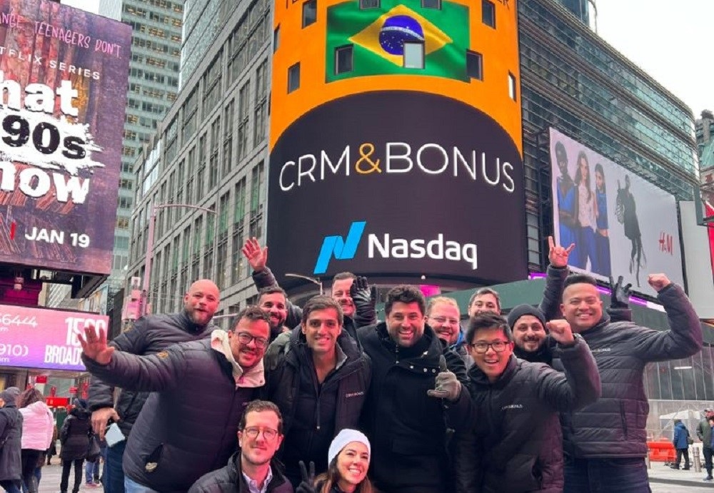
[[[281,462],[293,486],[301,482],[300,461],[327,470],[328,449],[343,428],[356,428],[371,380],[371,365],[356,341],[342,330],[343,313],[333,298],[316,296],[281,352],[266,356],[261,397],[283,413]]]

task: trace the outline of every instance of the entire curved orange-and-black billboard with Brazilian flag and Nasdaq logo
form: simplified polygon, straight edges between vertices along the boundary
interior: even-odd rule
[[[524,279],[516,2],[274,7],[273,272]]]

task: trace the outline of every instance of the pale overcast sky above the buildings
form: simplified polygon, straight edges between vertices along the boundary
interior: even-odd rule
[[[96,12],[99,0],[63,0]],[[595,0],[598,34],[684,101],[714,110],[714,0]],[[593,16],[592,8],[590,16]]]

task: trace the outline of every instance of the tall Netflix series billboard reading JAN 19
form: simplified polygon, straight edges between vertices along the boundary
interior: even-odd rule
[[[0,0],[0,263],[111,272],[131,26]]]

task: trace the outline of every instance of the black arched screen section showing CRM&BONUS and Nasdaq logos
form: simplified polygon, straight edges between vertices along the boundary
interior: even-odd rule
[[[298,118],[271,152],[278,274],[523,279],[523,210],[516,145],[485,113],[443,96],[346,96]]]

